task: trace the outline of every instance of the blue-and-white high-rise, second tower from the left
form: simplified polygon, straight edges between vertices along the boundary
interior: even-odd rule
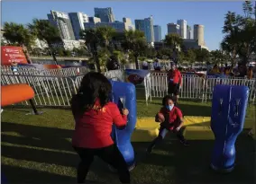
[[[69,19],[75,34],[75,39],[80,39],[80,31],[85,30],[84,23],[89,22],[85,13],[69,13]]]

